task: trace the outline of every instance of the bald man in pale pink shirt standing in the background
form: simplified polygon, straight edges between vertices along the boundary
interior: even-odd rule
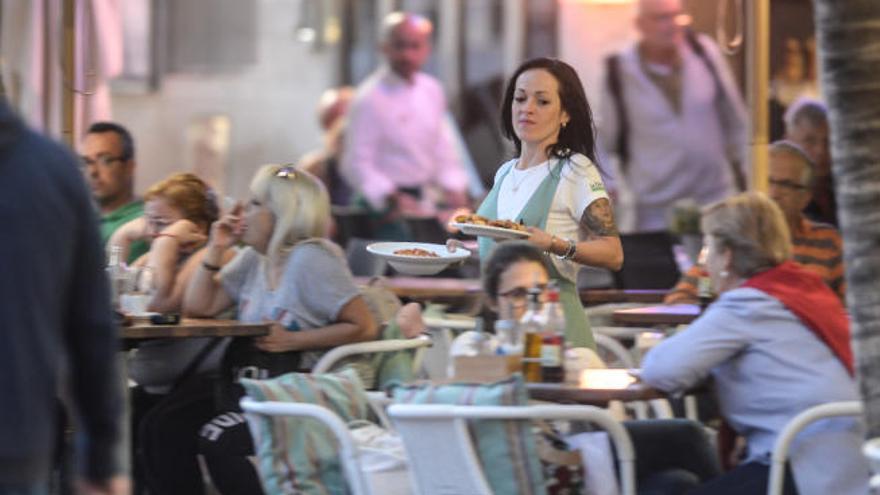
[[[403,240],[400,216],[425,211],[429,189],[446,206],[464,206],[468,177],[445,123],[440,83],[421,72],[433,27],[424,17],[395,12],[385,19],[385,64],[357,89],[349,109],[342,173],[379,217],[377,238]]]

